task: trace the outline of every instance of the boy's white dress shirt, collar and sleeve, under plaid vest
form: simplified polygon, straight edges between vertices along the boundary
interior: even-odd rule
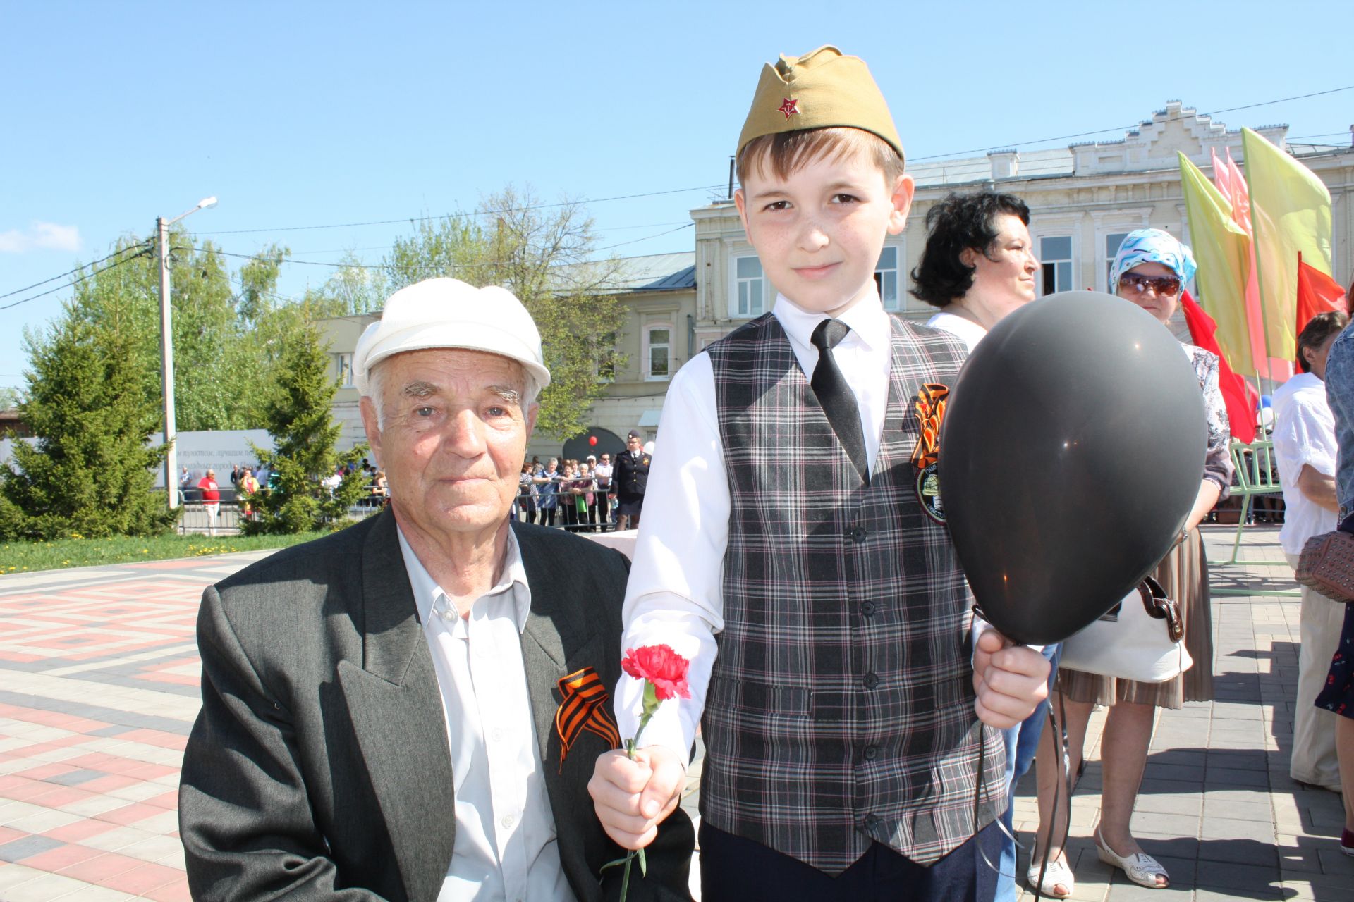
[[[811,379],[818,349],[810,337],[827,316],[807,312],[784,295],[776,298],[772,315],[789,337],[799,368]],[[892,326],[877,296],[858,302],[837,319],[850,333],[833,349],[833,358],[860,404],[865,453],[873,469],[888,410]],[[663,642],[691,661],[691,699],[659,705],[639,740],[640,746],[663,745],[686,761],[715,665],[715,633],[724,627],[730,496],[709,354],[696,354],[673,376],[658,434],[663,453],[654,456],[649,471],[649,515],[640,521],[635,540],[621,648]],[[776,449],[768,448],[766,453],[774,457]],[[642,694],[640,680],[620,678],[616,721],[621,737],[635,736]]]

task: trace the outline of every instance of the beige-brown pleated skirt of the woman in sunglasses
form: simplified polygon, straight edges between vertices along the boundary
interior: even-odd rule
[[[1185,702],[1208,702],[1213,698],[1213,613],[1208,596],[1208,559],[1198,529],[1177,545],[1156,565],[1152,576],[1166,595],[1179,602],[1185,618],[1185,648],[1194,665],[1164,683],[1136,683],[1114,676],[1082,673],[1059,668],[1057,688],[1074,702],[1114,705],[1136,702],[1156,707],[1179,707]]]

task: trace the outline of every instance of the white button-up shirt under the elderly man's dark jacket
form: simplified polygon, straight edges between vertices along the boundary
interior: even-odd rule
[[[399,553],[437,673],[456,783],[456,844],[437,902],[573,899],[521,657],[531,588],[517,537],[508,530],[502,576],[467,617],[402,533]]]

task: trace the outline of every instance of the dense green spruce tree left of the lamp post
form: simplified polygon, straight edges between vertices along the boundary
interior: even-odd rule
[[[154,536],[177,511],[152,492],[165,446],[142,387],[130,318],[103,329],[68,304],[45,335],[28,334],[27,398],[19,412],[39,437],[14,442],[3,468],[0,530],[9,538]]]

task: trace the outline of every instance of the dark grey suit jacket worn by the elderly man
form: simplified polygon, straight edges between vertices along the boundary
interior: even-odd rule
[[[586,784],[590,732],[559,768],[556,680],[620,678],[627,563],[515,525],[531,586],[521,648],[559,857],[580,899],[619,897],[623,851]],[[455,844],[441,695],[394,517],[279,552],[203,594],[202,713],[184,752],[179,829],[198,899],[437,898]],[[609,705],[609,702],[608,702]],[[632,870],[631,899],[689,899],[691,821],[677,810]]]

